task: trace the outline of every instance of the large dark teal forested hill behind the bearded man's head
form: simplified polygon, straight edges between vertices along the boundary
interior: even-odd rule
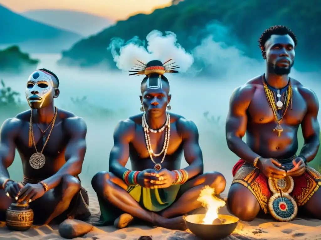
[[[244,1],[240,4],[238,0],[185,0],[156,9],[149,15],[137,14],[118,21],[99,34],[74,44],[70,50],[63,52],[59,63],[90,67],[108,62],[116,68],[110,51],[107,51],[110,40],[119,37],[126,42],[134,36],[145,40],[147,34],[154,29],[174,32],[178,43],[187,51],[192,51],[204,37],[213,34],[214,40],[237,45],[247,56],[261,60],[258,38],[266,28],[282,24],[290,27],[299,39],[296,68],[304,64],[304,70],[310,70],[313,67],[320,68],[320,53],[316,51],[320,49],[320,16],[321,2],[317,0],[305,4],[300,0],[271,0],[268,4],[265,1]],[[226,26],[230,32],[224,33],[224,29],[221,31],[211,28],[213,21]],[[307,61],[315,63],[315,66],[306,66]]]

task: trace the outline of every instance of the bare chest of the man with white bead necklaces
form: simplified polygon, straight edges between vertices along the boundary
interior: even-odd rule
[[[166,141],[169,140],[168,147],[166,148]],[[181,137],[178,135],[175,125],[171,125],[170,132],[165,129],[160,133],[148,134],[143,131],[143,128],[138,128],[135,132],[135,138],[132,142],[135,152],[139,155],[139,158],[148,158],[148,148],[152,149],[153,153],[159,154],[163,149],[167,149],[167,155],[174,154],[182,143]],[[163,155],[162,155],[163,156]]]

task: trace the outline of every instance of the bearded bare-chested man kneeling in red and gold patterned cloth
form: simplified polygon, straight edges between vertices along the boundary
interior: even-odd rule
[[[265,74],[234,91],[226,122],[228,146],[241,158],[233,168],[230,210],[246,221],[260,209],[280,221],[292,220],[300,208],[320,219],[321,175],[308,166],[320,145],[319,101],[288,76],[297,38],[289,28],[274,26],[259,45]],[[304,146],[296,156],[300,124]]]

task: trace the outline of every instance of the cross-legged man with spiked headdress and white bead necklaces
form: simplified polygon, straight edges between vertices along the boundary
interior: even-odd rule
[[[135,217],[154,226],[185,229],[183,215],[201,206],[201,189],[209,185],[220,194],[226,181],[219,172],[203,173],[196,125],[166,112],[171,95],[163,73],[176,71],[158,60],[142,68],[143,113],[119,122],[109,172],[97,173],[91,183],[104,224],[124,228]],[[189,166],[180,169],[183,153]],[[132,171],[125,168],[128,158]]]

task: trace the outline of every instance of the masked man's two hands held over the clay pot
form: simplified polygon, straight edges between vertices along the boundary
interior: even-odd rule
[[[17,203],[30,203],[45,194],[45,189],[41,183],[28,183],[23,186],[20,182],[10,181],[6,184],[4,190],[7,196],[15,199]]]

